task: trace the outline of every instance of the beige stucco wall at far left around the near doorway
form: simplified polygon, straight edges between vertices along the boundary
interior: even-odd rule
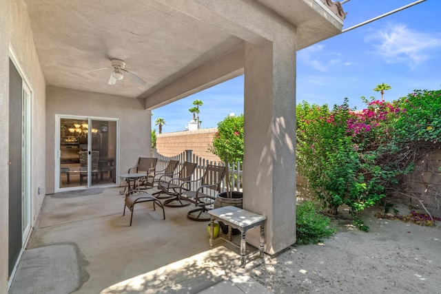
[[[0,293],[8,292],[8,191],[9,191],[9,55],[13,52],[18,69],[32,91],[32,225],[44,194],[45,173],[45,81],[34,47],[28,12],[21,0],[0,4]],[[6,238],[3,238],[6,237]]]

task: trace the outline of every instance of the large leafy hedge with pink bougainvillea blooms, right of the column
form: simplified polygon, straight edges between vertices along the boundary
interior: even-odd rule
[[[367,101],[361,111],[348,101],[297,106],[298,170],[318,200],[337,213],[356,212],[384,198],[413,169],[418,154],[440,148],[441,90],[415,92],[393,102]]]

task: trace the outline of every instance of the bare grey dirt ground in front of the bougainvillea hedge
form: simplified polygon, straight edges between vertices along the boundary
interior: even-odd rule
[[[410,211],[404,204],[398,210]],[[441,293],[441,222],[421,227],[376,218],[378,212],[360,214],[368,233],[339,212],[334,236],[291,246],[249,274],[274,293]]]

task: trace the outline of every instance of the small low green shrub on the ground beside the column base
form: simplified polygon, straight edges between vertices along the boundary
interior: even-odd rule
[[[317,244],[322,238],[329,238],[336,229],[329,227],[329,218],[318,213],[314,204],[303,201],[297,204],[297,244]]]

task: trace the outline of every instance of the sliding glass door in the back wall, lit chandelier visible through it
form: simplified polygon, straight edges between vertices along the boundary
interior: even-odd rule
[[[59,117],[58,189],[116,183],[117,120]]]

